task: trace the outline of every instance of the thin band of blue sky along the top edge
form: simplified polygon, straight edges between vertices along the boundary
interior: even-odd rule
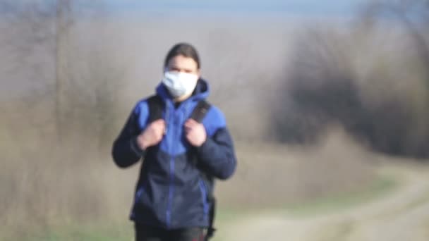
[[[84,6],[92,1],[79,0]],[[284,14],[294,16],[349,16],[368,0],[104,0],[118,13],[188,12]],[[97,2],[97,1],[95,1]]]

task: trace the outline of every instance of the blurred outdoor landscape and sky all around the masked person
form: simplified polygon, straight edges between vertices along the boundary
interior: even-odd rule
[[[199,51],[238,156],[216,241],[429,240],[429,1],[0,0],[0,240],[132,240],[111,144]]]

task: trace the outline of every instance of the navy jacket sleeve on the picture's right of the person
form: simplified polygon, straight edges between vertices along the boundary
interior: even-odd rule
[[[221,122],[224,123],[223,116],[221,118]],[[237,165],[231,135],[226,125],[217,128],[213,135],[208,134],[207,140],[197,148],[198,160],[207,173],[215,178],[226,180],[234,174]]]

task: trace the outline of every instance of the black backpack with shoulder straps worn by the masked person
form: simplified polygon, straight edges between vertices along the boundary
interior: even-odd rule
[[[164,101],[162,101],[159,95],[155,94],[152,97],[149,97],[149,99],[147,99],[147,105],[149,106],[148,123],[152,123],[153,121],[156,121],[162,118],[162,112],[164,111]],[[198,123],[201,123],[201,121],[203,121],[210,107],[211,107],[210,103],[208,103],[205,100],[200,100],[197,106],[195,106],[195,109],[193,109],[193,112],[191,113],[191,118],[193,118]],[[207,173],[203,173],[203,174],[205,175],[205,178],[207,180],[212,180],[212,177],[210,177]],[[210,190],[213,190],[213,188],[211,188]],[[214,215],[216,213],[216,199],[214,198],[212,191],[210,191],[210,193],[208,193],[207,195],[208,195],[209,202],[212,205],[209,212],[209,218],[210,218],[209,227],[207,228],[207,234],[205,235],[205,240],[209,240],[211,237],[213,237],[214,231],[216,231],[216,229],[213,227]]]

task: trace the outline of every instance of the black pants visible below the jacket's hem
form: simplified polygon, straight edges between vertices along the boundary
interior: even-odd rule
[[[204,241],[203,228],[167,230],[135,223],[135,241]]]

